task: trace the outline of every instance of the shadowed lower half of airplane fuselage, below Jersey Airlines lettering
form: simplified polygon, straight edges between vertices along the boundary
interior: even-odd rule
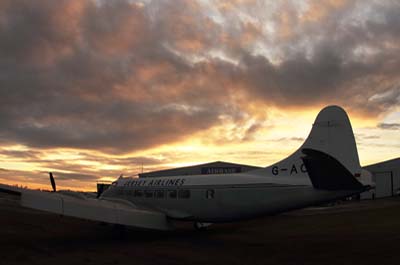
[[[142,195],[135,196],[135,193],[138,195],[141,191]],[[323,191],[310,186],[260,184],[229,188],[209,186],[157,190],[121,189],[115,192],[113,197],[128,200],[140,208],[163,212],[172,219],[217,223],[318,205],[346,198],[358,191]],[[179,196],[180,194],[185,196]]]

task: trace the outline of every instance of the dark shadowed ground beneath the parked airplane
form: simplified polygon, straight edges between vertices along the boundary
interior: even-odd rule
[[[0,195],[0,264],[400,264],[400,198],[311,208],[195,231],[121,231]],[[122,236],[121,236],[121,233]]]

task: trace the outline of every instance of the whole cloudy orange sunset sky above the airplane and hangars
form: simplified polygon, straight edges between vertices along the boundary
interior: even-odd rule
[[[400,156],[399,1],[0,2],[0,183],[267,166],[332,104],[362,165]]]

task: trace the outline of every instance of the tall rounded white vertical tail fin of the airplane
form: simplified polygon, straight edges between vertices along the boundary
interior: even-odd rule
[[[353,129],[346,112],[339,106],[322,109],[304,144],[286,159],[264,169],[273,175],[298,175],[308,177],[301,159],[302,149],[313,149],[328,154],[339,161],[353,176],[361,172]]]

